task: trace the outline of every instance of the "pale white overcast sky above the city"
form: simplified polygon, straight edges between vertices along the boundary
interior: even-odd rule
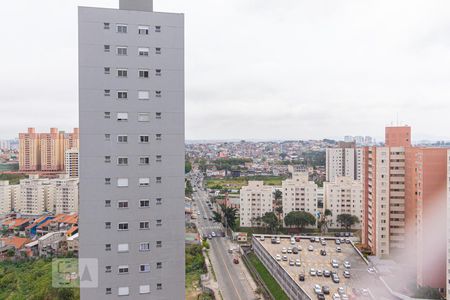
[[[78,5],[0,10],[0,137],[78,125]],[[450,1],[155,0],[184,12],[187,139],[450,139]]]

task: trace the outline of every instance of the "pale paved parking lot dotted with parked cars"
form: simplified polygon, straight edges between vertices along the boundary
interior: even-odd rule
[[[261,240],[260,237],[255,237],[267,252],[278,261],[282,268],[295,279],[311,299],[318,298],[314,290],[316,284],[320,285],[320,287],[326,286],[329,288],[329,294],[324,294],[323,296],[325,298],[322,299],[333,299],[333,294],[339,293],[339,288],[341,288],[341,297],[338,299],[342,300],[371,298],[393,299],[377,275],[369,272],[365,261],[359,256],[351,243],[346,243],[345,239],[340,245],[337,245],[336,238],[327,237],[324,239],[325,245],[322,245],[321,242],[311,242],[311,237],[297,237],[297,241],[293,245],[291,244],[291,239],[287,236],[282,236],[279,239],[279,244],[273,244],[271,236],[265,236],[264,240]],[[312,251],[308,250],[310,246],[312,246]],[[283,248],[287,252],[289,248],[292,249],[293,247],[299,249],[298,254],[282,253],[284,252]],[[340,252],[337,251],[337,247],[340,247]],[[325,250],[326,255],[321,255],[321,250]],[[281,256],[282,259],[279,260],[280,257],[277,259],[277,255]],[[287,260],[283,260],[283,256],[286,256],[284,259]],[[299,259],[300,266],[291,266],[289,264],[291,259],[294,263]],[[338,267],[335,266],[333,268],[331,264],[332,260],[337,261]],[[350,263],[349,268],[344,267],[344,262],[346,261]],[[311,269],[314,269],[316,274],[311,274]],[[336,272],[339,277],[339,283],[333,282],[333,275],[325,277],[325,270],[330,271],[330,273],[332,271]],[[350,273],[349,278],[344,277],[343,273],[345,270]],[[304,275],[304,281],[299,280],[300,274]]]

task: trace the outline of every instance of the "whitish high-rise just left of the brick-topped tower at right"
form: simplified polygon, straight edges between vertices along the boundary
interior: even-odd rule
[[[356,148],[355,142],[339,142],[337,148],[326,150],[326,181],[337,177],[351,177],[362,180],[363,150]]]

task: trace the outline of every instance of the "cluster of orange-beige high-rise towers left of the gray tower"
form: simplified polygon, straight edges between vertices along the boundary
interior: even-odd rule
[[[78,140],[78,128],[67,134],[57,128],[51,128],[49,133],[36,133],[34,128],[28,128],[27,133],[19,133],[19,170],[64,171],[65,152],[78,148]]]

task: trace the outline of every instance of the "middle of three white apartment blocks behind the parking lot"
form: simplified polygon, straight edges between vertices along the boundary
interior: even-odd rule
[[[291,179],[282,182],[283,214],[286,216],[291,211],[306,211],[317,216],[318,186],[309,181],[308,173],[294,173]]]

